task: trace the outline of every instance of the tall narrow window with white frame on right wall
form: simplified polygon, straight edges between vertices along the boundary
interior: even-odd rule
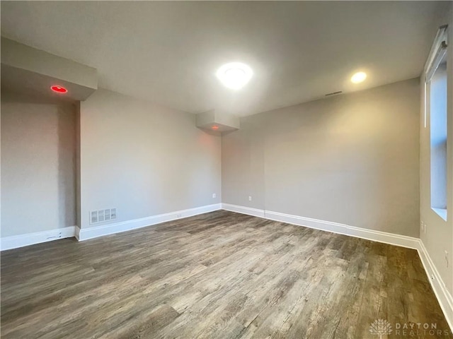
[[[447,26],[437,32],[425,66],[425,127],[428,117],[431,208],[447,220]]]

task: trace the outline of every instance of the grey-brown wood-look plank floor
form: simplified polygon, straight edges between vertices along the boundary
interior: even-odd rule
[[[415,250],[224,210],[1,253],[5,339],[379,338],[376,319],[453,338]]]

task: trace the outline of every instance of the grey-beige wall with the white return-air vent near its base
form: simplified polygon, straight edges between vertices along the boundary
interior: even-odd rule
[[[194,114],[97,90],[80,104],[81,228],[99,225],[91,210],[117,208],[111,223],[220,203],[220,151]]]

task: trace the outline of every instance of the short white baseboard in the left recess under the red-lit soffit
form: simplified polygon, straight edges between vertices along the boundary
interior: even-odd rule
[[[75,226],[69,226],[55,230],[3,237],[0,239],[0,249],[5,251],[6,249],[17,249],[18,247],[40,244],[41,242],[52,242],[52,240],[74,237],[75,230]]]

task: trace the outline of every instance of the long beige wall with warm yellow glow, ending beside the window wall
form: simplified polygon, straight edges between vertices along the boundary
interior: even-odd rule
[[[412,79],[241,118],[222,203],[418,237],[419,95]]]

